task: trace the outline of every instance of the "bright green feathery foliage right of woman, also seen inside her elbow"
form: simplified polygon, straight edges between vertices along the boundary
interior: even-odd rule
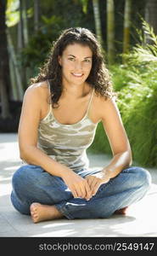
[[[157,166],[157,38],[145,21],[143,30],[140,44],[125,56],[125,65],[111,67],[110,72],[133,160],[141,166]],[[151,44],[144,44],[146,35]],[[93,152],[109,153],[102,125],[94,143]]]

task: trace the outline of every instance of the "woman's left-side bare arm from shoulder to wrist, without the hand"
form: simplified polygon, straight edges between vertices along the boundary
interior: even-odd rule
[[[66,167],[59,165],[37,148],[37,128],[42,112],[41,93],[42,90],[37,87],[25,91],[18,132],[20,158],[31,165],[42,166],[47,172],[61,177],[61,172]]]

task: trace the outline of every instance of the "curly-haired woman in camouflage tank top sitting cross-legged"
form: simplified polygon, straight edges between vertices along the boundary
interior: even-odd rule
[[[113,159],[89,170],[86,150],[102,121]],[[149,189],[149,172],[132,152],[93,33],[64,30],[25,91],[19,125],[20,158],[11,201],[38,223],[54,218],[109,218],[125,213]]]

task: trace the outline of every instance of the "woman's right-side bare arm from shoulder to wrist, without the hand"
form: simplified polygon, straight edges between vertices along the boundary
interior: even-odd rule
[[[115,177],[124,168],[132,165],[132,150],[115,101],[113,99],[107,101],[102,121],[109,138],[113,159],[104,170],[109,172],[109,177]]]

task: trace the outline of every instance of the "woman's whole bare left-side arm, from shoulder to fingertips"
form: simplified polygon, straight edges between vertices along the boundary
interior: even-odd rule
[[[37,148],[37,130],[45,104],[45,89],[38,85],[25,91],[19,125],[20,158],[28,164],[41,166],[51,175],[62,177],[74,197],[90,198],[91,192],[87,181],[78,176],[69,167],[60,164]]]

